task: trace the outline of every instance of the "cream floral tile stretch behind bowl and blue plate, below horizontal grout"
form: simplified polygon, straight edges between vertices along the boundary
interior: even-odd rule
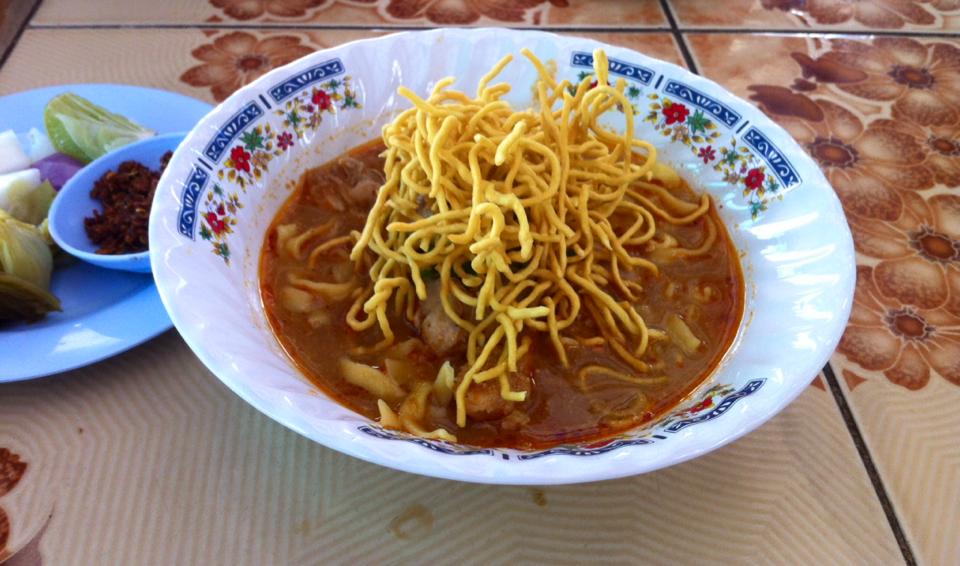
[[[205,99],[224,100],[234,90],[263,73],[317,49],[338,45],[383,32],[366,30],[51,30],[32,29],[0,75],[0,92],[12,92],[14,84],[35,88],[50,84],[33,71],[42,65],[48,50],[69,64],[59,82],[116,81],[113,69],[136,64],[137,84],[165,88]],[[622,45],[678,65],[683,57],[669,33],[575,32]],[[72,49],[78,42],[84,50]],[[102,65],[90,66],[89,60]],[[8,86],[9,85],[9,86]]]

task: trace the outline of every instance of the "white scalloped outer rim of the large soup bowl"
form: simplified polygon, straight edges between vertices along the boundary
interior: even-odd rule
[[[490,36],[493,35],[496,35],[497,38],[489,39]],[[258,97],[263,99],[262,95],[266,94],[267,87],[270,85],[279,83],[287,77],[295,76],[311,65],[343,53],[353,53],[365,47],[375,49],[378,44],[382,46],[390,42],[422,41],[424,44],[432,45],[443,41],[476,43],[484,41],[485,39],[511,44],[512,49],[516,51],[519,49],[516,47],[516,43],[522,38],[527,38],[532,43],[538,41],[544,43],[552,42],[560,46],[558,48],[560,51],[564,51],[567,47],[574,44],[582,44],[591,49],[595,46],[603,46],[607,49],[608,53],[611,54],[611,57],[615,55],[617,57],[633,58],[634,60],[643,61],[648,66],[656,68],[658,72],[664,76],[681,77],[686,84],[709,92],[717,99],[743,112],[744,116],[749,116],[755,127],[762,128],[764,133],[767,134],[772,141],[779,144],[779,147],[786,149],[783,153],[789,156],[789,158],[793,160],[793,165],[804,174],[805,180],[802,188],[812,191],[819,197],[822,201],[822,203],[817,205],[819,207],[819,214],[824,215],[830,220],[830,222],[833,223],[832,227],[835,228],[835,234],[832,236],[832,242],[835,246],[831,249],[831,257],[837,264],[836,280],[833,283],[833,287],[831,287],[831,292],[834,295],[834,297],[830,299],[833,310],[829,313],[831,316],[829,321],[825,323],[822,335],[814,337],[818,341],[814,341],[815,344],[811,346],[812,353],[810,354],[810,359],[805,361],[804,367],[806,370],[812,371],[809,371],[809,375],[805,376],[797,375],[797,370],[793,367],[783,367],[779,368],[779,372],[774,371],[774,374],[776,374],[775,377],[770,377],[769,379],[775,383],[775,386],[768,387],[766,390],[767,392],[773,390],[774,393],[772,396],[757,395],[753,400],[740,403],[739,410],[736,411],[738,414],[737,417],[730,417],[731,420],[726,424],[721,422],[724,419],[717,419],[712,423],[702,426],[698,429],[701,430],[702,433],[698,433],[696,438],[691,437],[689,431],[678,435],[677,438],[681,436],[684,437],[685,443],[683,444],[683,450],[660,451],[656,447],[629,446],[618,448],[615,451],[600,454],[590,459],[574,459],[566,454],[547,455],[540,458],[535,466],[531,466],[531,468],[528,469],[523,469],[523,467],[528,464],[533,464],[532,461],[519,462],[517,458],[509,458],[509,456],[505,456],[503,460],[500,458],[486,458],[480,455],[453,456],[437,453],[433,450],[426,450],[416,443],[393,442],[391,440],[365,437],[364,435],[357,434],[356,430],[347,426],[346,422],[343,423],[341,428],[334,427],[329,430],[320,430],[313,426],[312,421],[310,421],[311,416],[301,415],[295,408],[290,408],[293,407],[290,398],[285,398],[279,393],[277,398],[271,399],[266,399],[263,396],[255,394],[253,385],[250,382],[253,378],[245,375],[240,368],[231,367],[231,359],[228,355],[222,352],[215,352],[209,348],[204,343],[204,339],[199,334],[199,331],[190,327],[187,321],[187,313],[190,306],[178,300],[177,295],[182,288],[190,285],[191,281],[188,276],[171,267],[171,265],[176,264],[178,261],[177,253],[179,252],[177,250],[181,247],[181,244],[172,244],[170,247],[154,245],[155,238],[158,241],[161,239],[173,241],[171,239],[176,235],[174,233],[176,231],[173,226],[174,221],[169,217],[161,216],[160,211],[165,213],[173,210],[170,208],[172,206],[169,202],[170,197],[179,195],[183,190],[185,183],[180,179],[186,178],[187,173],[190,171],[190,164],[199,158],[201,148],[207,144],[211,137],[211,131],[217,131],[218,125],[227,121],[232,115],[235,115],[235,112],[237,112],[243,104],[249,101],[256,101]],[[436,73],[436,75],[434,79],[441,78],[445,76],[446,73]],[[664,141],[663,143],[667,142]],[[170,166],[161,178],[159,187],[150,219],[150,254],[151,261],[154,265],[154,276],[161,298],[171,319],[183,335],[189,347],[204,365],[210,368],[221,381],[246,402],[284,426],[312,440],[373,463],[427,476],[479,483],[514,485],[578,483],[645,473],[695,458],[732,442],[754,430],[780,412],[800,395],[808,386],[810,379],[816,375],[832,355],[839,342],[852,307],[855,263],[853,260],[853,242],[849,227],[843,216],[839,200],[833,193],[822,172],[811,158],[803,152],[799,145],[793,141],[789,134],[749,102],[729,93],[713,81],[694,75],[686,69],[672,63],[653,59],[631,49],[605,45],[585,38],[556,36],[539,31],[503,30],[498,28],[447,28],[429,31],[400,32],[372,39],[351,41],[336,47],[316,51],[297,61],[268,72],[251,84],[240,88],[212,110],[187,135],[183,143],[181,143],[174,158],[171,160]],[[161,191],[161,189],[163,190]],[[161,198],[166,199],[164,206],[158,206]],[[800,197],[789,198],[797,200]],[[183,253],[192,254],[193,252],[184,251]],[[750,279],[746,270],[744,275],[745,278]],[[249,283],[249,281],[247,283]],[[749,321],[747,321],[746,324],[749,324]],[[740,337],[738,337],[738,340],[740,340]],[[728,360],[725,360],[725,362],[726,361]],[[790,373],[791,371],[793,374]],[[285,407],[284,401],[286,405],[290,407]],[[731,413],[733,412],[734,411],[731,411]],[[663,446],[663,444],[661,444],[661,446]],[[643,452],[643,450],[653,450],[653,452]],[[504,454],[506,454],[506,452],[509,451],[504,451]]]

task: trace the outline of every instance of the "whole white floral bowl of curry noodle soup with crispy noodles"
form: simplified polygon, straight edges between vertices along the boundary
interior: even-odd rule
[[[174,154],[150,250],[181,334],[259,410],[486,483],[745,434],[825,363],[854,284],[832,189],[759,110],[500,29],[348,43],[242,88]]]

